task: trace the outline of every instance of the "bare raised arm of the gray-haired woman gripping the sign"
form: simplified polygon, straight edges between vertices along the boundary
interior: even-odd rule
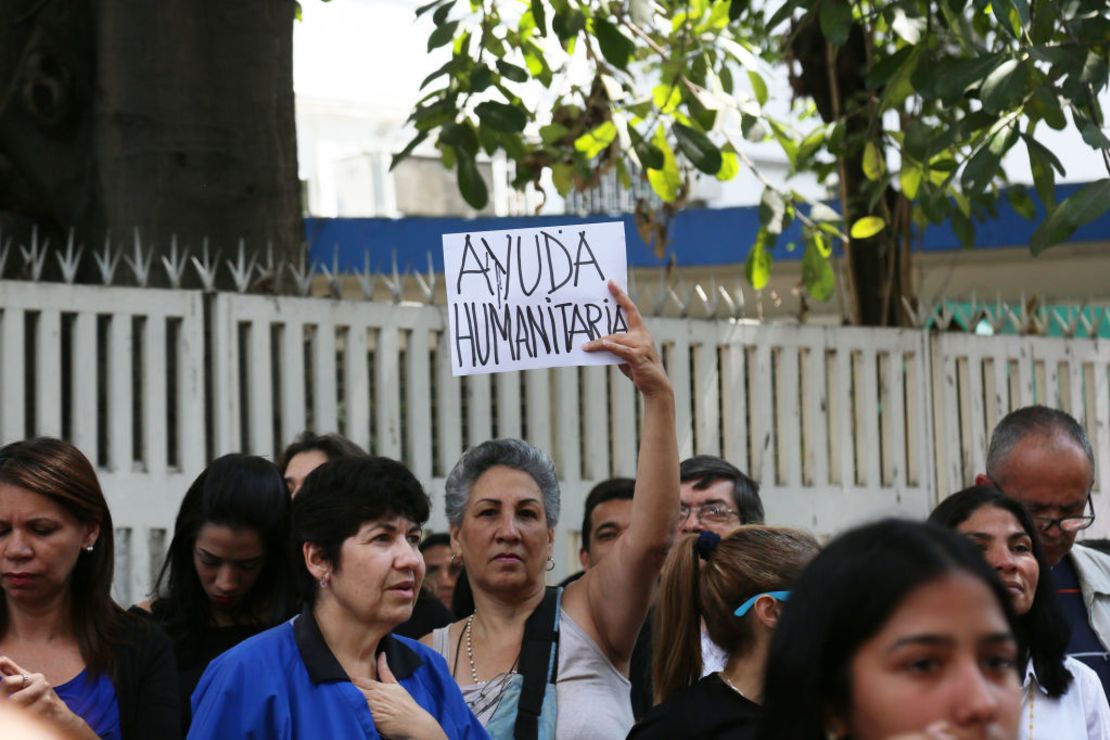
[[[632,521],[613,550],[567,587],[572,618],[620,669],[626,669],[674,533],[678,513],[678,440],[675,392],[655,341],[636,305],[616,285],[609,292],[627,316],[628,332],[589,342],[587,352],[610,352],[644,398],[644,428]],[[632,430],[628,430],[632,434]]]

